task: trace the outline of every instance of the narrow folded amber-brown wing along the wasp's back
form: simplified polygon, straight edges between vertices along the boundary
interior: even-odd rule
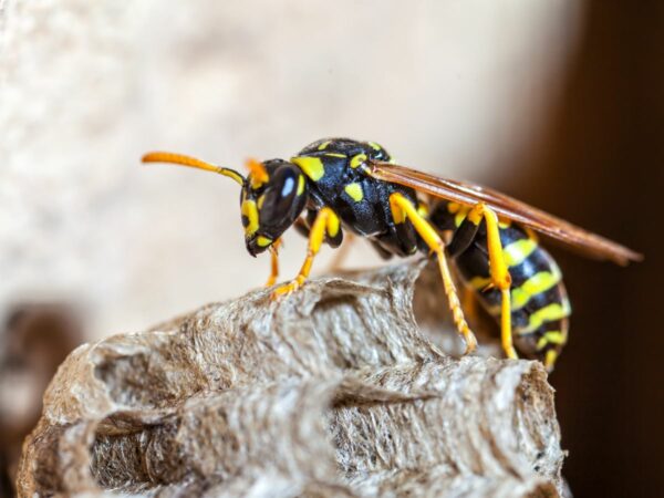
[[[623,266],[630,261],[641,261],[643,259],[642,255],[620,243],[591,234],[563,219],[490,188],[442,178],[391,163],[370,162],[367,173],[374,178],[404,185],[421,193],[466,206],[485,203],[499,217],[530,227],[536,231],[578,248],[583,253],[598,259],[608,259]]]

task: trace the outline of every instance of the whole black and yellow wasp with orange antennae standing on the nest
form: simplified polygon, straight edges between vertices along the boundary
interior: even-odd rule
[[[247,250],[252,256],[271,252],[270,286],[279,273],[283,232],[294,226],[309,237],[302,268],[293,280],[272,291],[273,299],[298,290],[321,246],[339,247],[349,230],[369,239],[385,259],[418,251],[436,258],[466,353],[477,341],[464,315],[453,269],[498,321],[506,355],[518,357],[516,345],[549,370],[567,342],[571,307],[562,273],[535,232],[619,264],[642,259],[498,191],[393,164],[374,142],[321,139],[290,160],[248,160],[247,177],[172,153],[149,153],[143,162],[190,166],[237,181]]]

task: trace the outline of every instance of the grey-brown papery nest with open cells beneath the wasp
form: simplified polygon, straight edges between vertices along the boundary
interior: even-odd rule
[[[82,345],[25,442],[21,496],[563,494],[542,366],[443,353],[427,271],[426,333],[413,312],[422,268],[321,278],[278,302],[258,290]]]

